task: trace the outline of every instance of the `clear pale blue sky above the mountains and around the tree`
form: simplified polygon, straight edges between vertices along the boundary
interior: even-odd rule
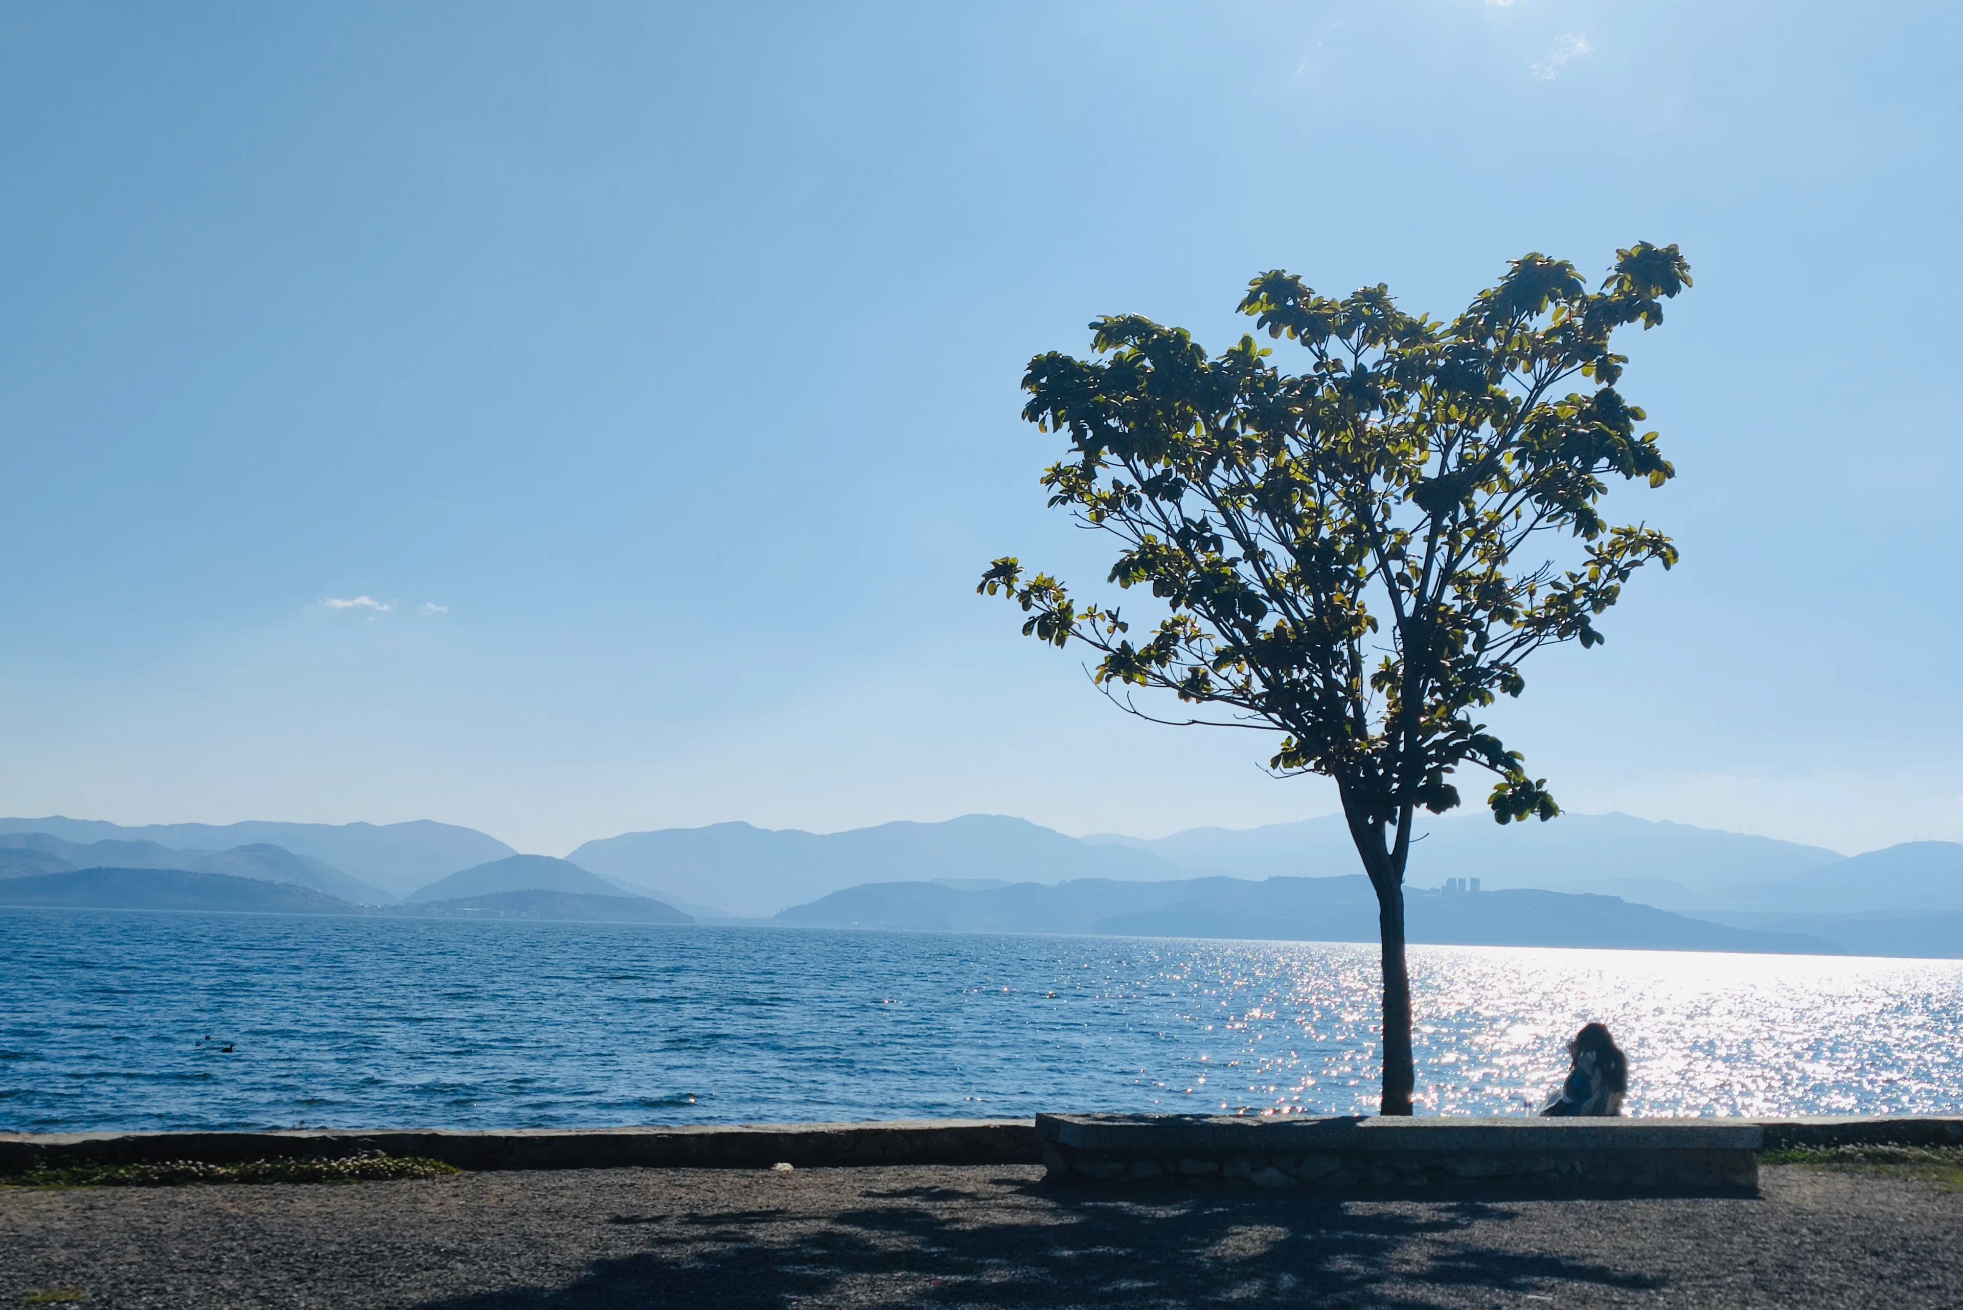
[[[1103,573],[1021,365],[1651,240],[1678,481],[1623,511],[1684,562],[1510,744],[1572,809],[1963,839],[1959,51],[1934,2],[8,6],[0,813],[1327,813],[972,595]]]

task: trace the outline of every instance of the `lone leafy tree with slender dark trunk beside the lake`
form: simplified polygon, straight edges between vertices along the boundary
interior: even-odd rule
[[[1148,585],[1164,617],[1131,634],[1117,607],[995,560],[980,591],[1029,615],[1025,636],[1099,652],[1091,678],[1158,723],[1282,735],[1274,774],[1323,774],[1376,888],[1384,947],[1384,1114],[1411,1114],[1404,870],[1417,809],[1459,805],[1460,764],[1496,776],[1508,823],[1561,809],[1476,715],[1519,695],[1541,646],[1602,634],[1594,617],[1676,550],[1598,513],[1608,475],[1674,473],[1616,383],[1618,328],[1663,322],[1690,285],[1674,246],[1616,251],[1598,291],[1525,255],[1453,322],[1402,312],[1386,287],[1341,300],[1288,273],[1241,310],[1307,352],[1284,373],[1252,336],[1211,359],[1180,328],[1099,318],[1101,359],[1036,355],[1023,416],[1070,436],[1050,505],[1121,544],[1109,581]],[[1561,556],[1561,558],[1553,558]],[[1137,687],[1188,707],[1164,719]]]

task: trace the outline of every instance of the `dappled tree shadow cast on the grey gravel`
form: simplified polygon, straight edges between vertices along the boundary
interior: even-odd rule
[[[1009,1180],[1003,1180],[1009,1182]],[[1288,1306],[1561,1304],[1647,1275],[1476,1243],[1513,1212],[1478,1202],[1356,1206],[1247,1192],[1111,1196],[1015,1180],[901,1188],[844,1210],[610,1216],[646,1247],[563,1286],[428,1302],[428,1310],[599,1306]],[[1484,1292],[1484,1296],[1480,1296]]]

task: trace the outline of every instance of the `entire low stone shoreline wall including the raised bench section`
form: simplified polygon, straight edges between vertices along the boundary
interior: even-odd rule
[[[1759,1151],[1963,1145],[1963,1118],[1362,1119],[1036,1116],[571,1131],[0,1133],[0,1174],[71,1165],[412,1155],[457,1169],[1035,1165],[1054,1182],[1749,1194]]]

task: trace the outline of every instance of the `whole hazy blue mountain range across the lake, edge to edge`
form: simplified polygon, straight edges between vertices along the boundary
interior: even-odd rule
[[[285,841],[241,841],[273,835]],[[192,841],[210,845],[169,845]],[[234,845],[222,845],[226,841]],[[345,862],[322,852],[340,852]],[[88,866],[234,876],[365,905],[406,896],[410,905],[455,905],[457,913],[493,909],[461,905],[477,898],[538,892],[638,898],[711,921],[1374,935],[1374,909],[1368,931],[1337,929],[1331,925],[1349,923],[1341,915],[1362,909],[1313,898],[1313,903],[1300,901],[1307,896],[1301,884],[1331,884],[1354,874],[1349,833],[1333,817],[1248,831],[1192,829],[1156,841],[1074,839],[999,815],[826,835],[718,823],[591,841],[567,860],[518,856],[493,837],[442,823],[137,829],[80,819],[0,819],[0,886]],[[1523,939],[1539,941],[1535,935],[1553,925],[1547,931],[1563,945],[1582,945],[1590,933],[1608,931],[1602,925],[1623,933],[1621,945],[1639,939],[1688,943],[1702,929],[1682,923],[1704,921],[1727,933],[1814,939],[1812,947],[1788,941],[1757,949],[1830,945],[1857,953],[1963,955],[1959,843],[1904,843],[1845,858],[1820,846],[1629,815],[1563,815],[1545,825],[1508,827],[1480,817],[1431,819],[1421,825],[1411,856],[1413,925],[1429,913],[1421,909],[1429,903],[1425,888],[1447,878],[1478,878],[1486,888],[1476,901],[1455,901],[1462,931],[1474,935],[1498,931],[1480,927],[1478,915],[1486,913],[1525,915],[1519,927],[1508,929]],[[1109,892],[1113,886],[1123,892]],[[1547,892],[1566,900],[1498,898],[1500,892]],[[1604,907],[1604,898],[1619,898],[1616,903],[1625,909]],[[538,917],[540,905],[546,901],[520,911],[512,901],[499,913]],[[563,901],[561,909],[569,905],[573,901]],[[589,909],[599,913],[605,905],[595,901]],[[1641,919],[1631,913],[1637,909],[1669,913]],[[634,913],[648,911],[642,905]],[[1449,923],[1425,927],[1439,941],[1445,937],[1437,933],[1449,931],[1459,929]],[[1698,939],[1739,941],[1722,933]]]

